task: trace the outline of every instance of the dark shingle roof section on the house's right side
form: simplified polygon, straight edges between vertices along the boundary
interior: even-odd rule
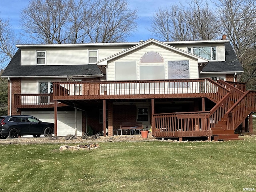
[[[208,62],[202,72],[244,71],[230,42],[225,43],[225,60],[226,61]]]

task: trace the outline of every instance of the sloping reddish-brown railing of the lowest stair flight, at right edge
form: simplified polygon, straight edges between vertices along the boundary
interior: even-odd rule
[[[246,91],[226,112],[228,129],[235,130],[251,112],[256,112],[256,91]]]

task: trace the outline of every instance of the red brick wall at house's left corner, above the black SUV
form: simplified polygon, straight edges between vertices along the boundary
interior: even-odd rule
[[[20,111],[17,112],[17,109],[14,108],[14,94],[21,93],[21,80],[20,79],[11,79],[12,81],[12,115],[20,115]],[[8,82],[8,115],[10,114],[10,82]]]

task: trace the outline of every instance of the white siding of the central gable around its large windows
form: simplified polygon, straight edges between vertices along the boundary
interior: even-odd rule
[[[146,53],[154,50],[158,52],[163,58],[164,63],[144,63],[139,64],[140,58]],[[168,79],[168,61],[179,61],[179,60],[189,60],[190,78],[198,78],[198,62],[194,58],[189,58],[180,54],[178,52],[171,51],[169,49],[158,46],[154,43],[144,46],[136,51],[129,54],[116,58],[108,63],[107,68],[107,80],[115,79],[115,62],[137,62],[137,79],[140,79],[140,66],[164,66],[164,79]]]

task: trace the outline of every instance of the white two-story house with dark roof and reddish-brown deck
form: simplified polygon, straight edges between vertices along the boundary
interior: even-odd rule
[[[225,133],[234,134],[252,112],[239,122],[228,115],[246,90],[236,82],[243,69],[225,36],[16,47],[2,74],[9,80],[8,113],[54,122],[57,136],[120,134],[125,122],[152,127],[156,137],[221,139],[213,130],[222,118]]]

